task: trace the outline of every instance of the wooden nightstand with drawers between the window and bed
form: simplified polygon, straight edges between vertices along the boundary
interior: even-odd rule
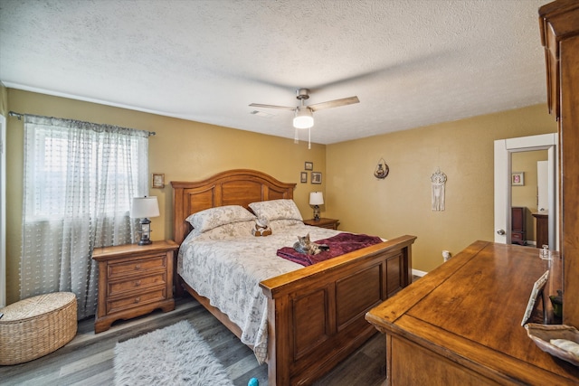
[[[119,245],[94,249],[99,263],[99,303],[94,332],[107,331],[118,319],[130,319],[161,308],[175,309],[173,240],[150,245]]]

